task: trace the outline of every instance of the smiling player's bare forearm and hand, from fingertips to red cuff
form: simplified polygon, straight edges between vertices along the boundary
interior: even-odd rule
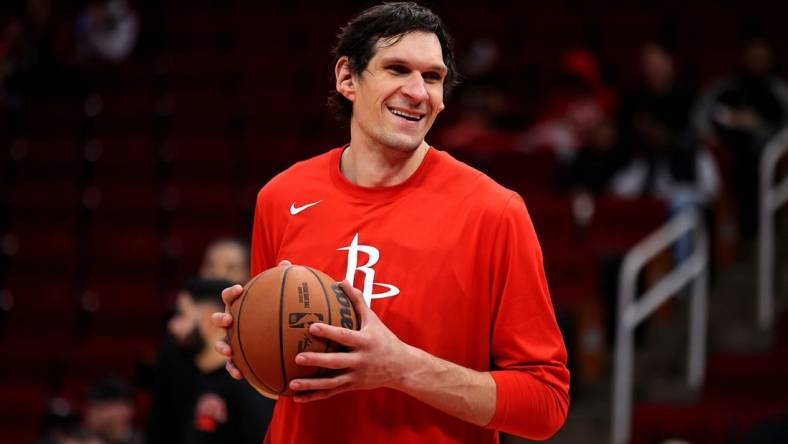
[[[402,342],[364,303],[348,281],[342,289],[353,303],[359,331],[315,323],[309,333],[338,342],[346,352],[296,355],[299,365],[335,370],[331,377],[294,379],[296,402],[330,398],[350,390],[391,388],[472,424],[484,426],[495,413],[496,386],[489,372],[471,370]]]

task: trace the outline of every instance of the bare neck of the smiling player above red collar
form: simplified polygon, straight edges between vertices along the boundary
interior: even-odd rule
[[[429,145],[423,141],[415,150],[398,151],[351,140],[342,153],[340,170],[345,178],[362,187],[399,185],[416,172],[427,151]]]

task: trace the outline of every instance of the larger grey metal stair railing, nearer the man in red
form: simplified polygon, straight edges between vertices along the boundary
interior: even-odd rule
[[[682,237],[693,234],[693,252],[650,289],[636,298],[640,271],[658,253]],[[613,444],[629,442],[632,417],[632,381],[635,353],[635,327],[665,301],[692,284],[687,382],[692,389],[703,383],[706,366],[706,293],[708,274],[708,235],[703,218],[687,209],[671,218],[627,253],[619,273],[618,324],[613,374]]]

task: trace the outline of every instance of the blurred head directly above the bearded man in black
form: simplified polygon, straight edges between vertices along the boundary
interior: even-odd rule
[[[232,237],[212,242],[205,249],[200,277],[245,284],[249,280],[249,245]]]

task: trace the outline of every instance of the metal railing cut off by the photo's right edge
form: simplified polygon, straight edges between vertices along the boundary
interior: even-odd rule
[[[788,176],[774,184],[780,158],[788,152],[788,128],[777,134],[761,156],[760,227],[758,233],[758,326],[774,323],[774,213],[788,201]]]

